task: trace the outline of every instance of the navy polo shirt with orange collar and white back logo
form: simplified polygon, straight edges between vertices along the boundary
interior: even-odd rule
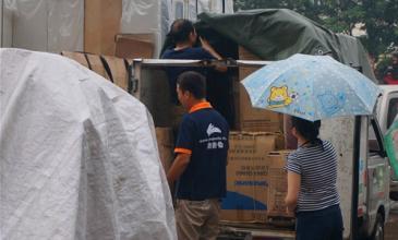
[[[226,195],[229,127],[205,101],[182,119],[176,153],[191,154],[177,185],[177,199],[203,201]]]

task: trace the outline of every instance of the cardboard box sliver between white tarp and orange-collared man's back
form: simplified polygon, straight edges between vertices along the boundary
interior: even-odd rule
[[[170,167],[171,163],[174,159],[173,154],[173,134],[171,128],[156,128],[156,140],[157,140],[157,146],[159,149],[159,157],[161,165],[164,166],[165,172],[167,172]]]

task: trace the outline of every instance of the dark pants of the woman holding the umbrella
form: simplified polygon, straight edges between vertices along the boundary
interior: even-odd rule
[[[297,214],[297,240],[342,240],[342,229],[339,205]]]

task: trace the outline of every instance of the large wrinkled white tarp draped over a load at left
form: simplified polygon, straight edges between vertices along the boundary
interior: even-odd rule
[[[146,108],[61,56],[0,49],[0,239],[177,239]]]

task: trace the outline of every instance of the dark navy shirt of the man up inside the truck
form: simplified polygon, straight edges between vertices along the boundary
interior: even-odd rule
[[[208,51],[203,49],[202,47],[195,48],[183,48],[180,50],[168,49],[161,55],[162,59],[197,59],[197,60],[207,60],[207,59],[215,59]],[[169,86],[170,86],[170,94],[171,100],[174,104],[178,104],[177,98],[177,77],[186,71],[195,71],[206,76],[206,69],[204,68],[194,68],[194,67],[168,67],[167,68],[167,75],[169,79]]]

